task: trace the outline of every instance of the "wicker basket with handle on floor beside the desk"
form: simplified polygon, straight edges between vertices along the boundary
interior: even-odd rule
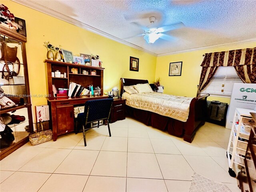
[[[42,131],[29,136],[29,140],[33,146],[52,140],[52,130],[44,131],[41,121],[40,124],[42,126]]]

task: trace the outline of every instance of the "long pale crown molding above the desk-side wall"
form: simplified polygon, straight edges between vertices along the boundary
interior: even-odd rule
[[[26,6],[26,7],[32,8],[32,9],[34,9],[34,10],[37,10],[37,11],[39,11],[39,12],[42,12],[42,13],[44,13],[44,14],[50,15],[50,16],[52,16],[52,17],[54,17],[54,18],[58,18],[58,19],[60,19],[60,20],[63,20],[63,21],[65,21],[65,22],[68,22],[68,23],[70,23],[70,24],[73,24],[73,25],[75,25],[75,26],[78,26],[78,27],[80,27],[80,28],[86,29],[86,30],[88,30],[88,31],[90,31],[90,32],[93,32],[93,33],[95,33],[95,34],[98,34],[98,35],[100,35],[100,36],[103,36],[103,37],[106,37],[106,38],[108,38],[108,39],[114,40],[114,41],[119,42],[119,43],[121,43],[121,44],[124,44],[124,45],[130,46],[130,47],[132,47],[132,48],[141,50],[141,51],[146,52],[146,53],[148,53],[148,54],[151,54],[151,55],[153,55],[153,56],[157,56],[157,54],[154,53],[154,52],[151,52],[151,51],[149,51],[149,50],[146,50],[146,49],[144,49],[144,48],[142,48],[142,47],[140,47],[140,46],[134,45],[134,44],[132,44],[132,43],[126,42],[126,41],[124,41],[124,40],[122,40],[122,39],[119,39],[119,38],[114,37],[114,36],[112,36],[112,35],[110,35],[110,34],[108,34],[108,33],[105,33],[105,32],[103,32],[103,31],[101,31],[101,30],[98,30],[98,29],[96,29],[96,28],[94,28],[94,27],[92,27],[92,26],[89,26],[89,25],[84,24],[84,23],[82,23],[82,22],[80,22],[80,21],[78,21],[78,20],[75,20],[75,19],[73,19],[73,18],[70,18],[70,17],[68,17],[68,16],[66,16],[66,15],[64,15],[64,14],[61,14],[61,13],[59,13],[59,12],[56,12],[56,11],[51,10],[51,9],[49,9],[49,8],[46,8],[46,7],[44,7],[44,6],[40,5],[40,4],[37,4],[36,1],[32,1],[32,0],[12,0],[12,1],[13,1],[13,2],[16,2],[16,3],[18,3],[18,4],[21,4],[21,5],[24,5],[24,6]]]

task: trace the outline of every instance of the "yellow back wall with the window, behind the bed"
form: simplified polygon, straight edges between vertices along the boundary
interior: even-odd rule
[[[256,42],[168,56],[158,56],[156,60],[156,78],[161,78],[160,84],[164,86],[164,93],[166,94],[195,97],[202,70],[200,64],[203,60],[203,54],[253,47],[256,47]],[[182,61],[181,76],[169,76],[170,62],[180,61]],[[219,100],[221,102],[230,103],[230,98],[209,97],[208,100]]]

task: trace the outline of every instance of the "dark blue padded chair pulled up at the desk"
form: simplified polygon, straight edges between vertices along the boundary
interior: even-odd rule
[[[102,125],[108,125],[109,136],[111,137],[110,127],[108,119],[110,117],[110,111],[112,108],[113,99],[97,99],[89,100],[85,103],[84,113],[80,113],[77,116],[77,121],[82,124],[84,135],[84,146],[86,146],[85,132],[91,128],[99,127]],[[100,120],[103,124],[100,125]],[[86,126],[92,122],[98,122],[98,125],[89,127]]]

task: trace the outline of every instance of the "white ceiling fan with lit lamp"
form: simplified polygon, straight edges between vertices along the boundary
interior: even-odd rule
[[[170,35],[164,34],[164,32],[179,29],[179,28],[182,28],[185,26],[182,22],[179,22],[179,23],[175,23],[172,25],[162,26],[162,27],[157,28],[157,27],[153,27],[153,24],[155,21],[156,21],[155,16],[149,17],[150,25],[148,25],[147,27],[143,27],[135,22],[132,22],[133,24],[136,24],[144,29],[145,33],[140,34],[139,36],[144,36],[143,38],[146,40],[146,42],[148,44],[153,44],[156,40],[158,40],[158,38],[162,38],[164,40],[170,41],[173,39],[173,37]],[[150,27],[150,26],[152,26],[152,27]]]

